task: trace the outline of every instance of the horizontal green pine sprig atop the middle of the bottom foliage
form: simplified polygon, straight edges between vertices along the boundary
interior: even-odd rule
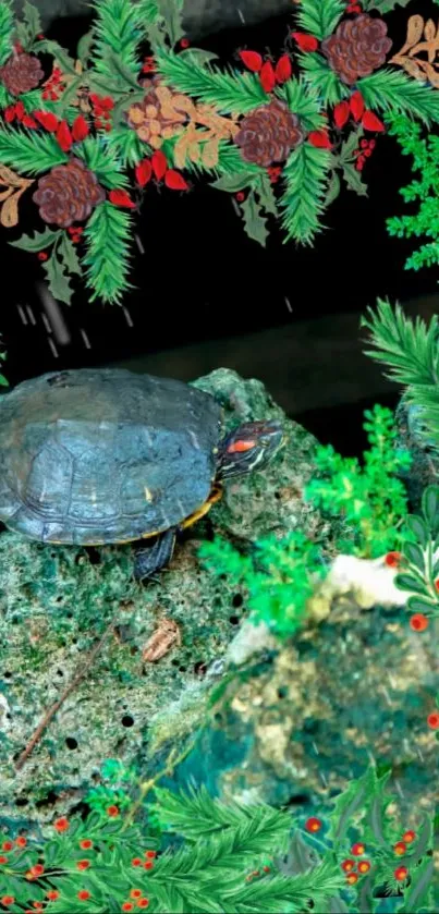
[[[240,557],[241,558],[241,557]],[[290,817],[264,804],[243,806],[234,801],[224,803],[210,796],[205,785],[194,787],[187,793],[173,793],[155,788],[158,815],[170,831],[179,832],[190,841],[219,832],[224,828],[244,828],[253,824],[255,833],[261,829],[272,840],[283,844],[291,826]]]

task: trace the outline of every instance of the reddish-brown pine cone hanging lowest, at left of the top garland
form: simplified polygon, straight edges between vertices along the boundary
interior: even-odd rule
[[[81,159],[71,159],[69,164],[56,166],[39,179],[33,200],[45,222],[66,229],[88,219],[105,196],[96,174]]]

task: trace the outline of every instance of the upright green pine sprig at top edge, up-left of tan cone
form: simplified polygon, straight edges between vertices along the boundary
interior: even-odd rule
[[[130,3],[127,0],[93,0],[92,5],[97,15],[93,49],[96,72],[101,76],[114,78],[114,66],[109,59],[109,53],[112,53],[119,58],[131,76],[137,80],[137,52],[145,37],[143,4]]]

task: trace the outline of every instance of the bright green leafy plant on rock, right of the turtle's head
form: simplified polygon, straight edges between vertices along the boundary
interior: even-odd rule
[[[365,410],[364,428],[370,450],[356,458],[343,458],[331,444],[319,447],[316,467],[322,478],[305,487],[305,499],[324,511],[340,514],[354,531],[354,539],[339,538],[340,551],[377,558],[401,543],[401,525],[407,512],[400,470],[411,465],[411,455],[395,448],[393,414],[385,406]]]

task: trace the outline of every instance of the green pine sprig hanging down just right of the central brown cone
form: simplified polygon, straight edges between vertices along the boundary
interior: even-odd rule
[[[329,151],[308,143],[291,154],[283,169],[285,190],[280,200],[285,242],[294,239],[298,244],[313,244],[314,236],[324,228],[319,217],[325,209],[329,166]]]

